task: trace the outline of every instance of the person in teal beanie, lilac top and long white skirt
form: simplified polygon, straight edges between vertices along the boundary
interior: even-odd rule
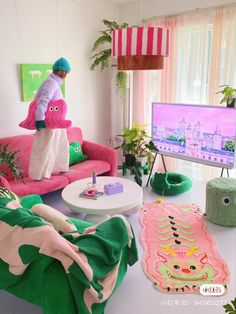
[[[52,70],[36,93],[36,133],[28,171],[33,180],[50,179],[53,172],[69,170],[66,129],[47,128],[45,113],[49,102],[63,98],[60,86],[71,67],[65,58],[60,58],[53,64]]]

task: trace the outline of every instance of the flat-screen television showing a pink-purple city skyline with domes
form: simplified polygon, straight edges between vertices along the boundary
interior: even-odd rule
[[[153,103],[152,140],[160,154],[234,168],[236,108]]]

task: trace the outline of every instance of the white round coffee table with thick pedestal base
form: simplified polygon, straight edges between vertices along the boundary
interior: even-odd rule
[[[142,204],[143,190],[135,182],[119,177],[97,177],[99,191],[104,192],[104,184],[119,182],[123,184],[124,191],[107,195],[104,193],[97,200],[82,198],[79,194],[87,188],[91,178],[85,178],[69,184],[62,191],[65,204],[76,213],[85,213],[86,220],[97,223],[110,215],[129,213],[138,209]]]

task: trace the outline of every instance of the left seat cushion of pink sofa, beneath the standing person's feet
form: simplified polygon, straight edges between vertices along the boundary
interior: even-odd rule
[[[64,188],[69,180],[62,175],[53,175],[49,180],[44,179],[41,181],[35,181],[27,177],[24,179],[24,183],[21,181],[12,181],[11,190],[19,196],[27,194],[46,194],[51,191]]]

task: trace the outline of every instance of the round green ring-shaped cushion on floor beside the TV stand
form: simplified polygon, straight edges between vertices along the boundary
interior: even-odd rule
[[[153,190],[160,195],[178,195],[191,189],[192,181],[180,173],[158,173],[150,181]]]

